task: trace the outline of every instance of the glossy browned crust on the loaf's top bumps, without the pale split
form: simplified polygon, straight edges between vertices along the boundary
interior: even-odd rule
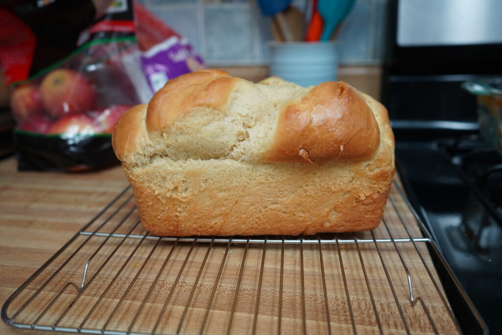
[[[263,82],[281,82],[273,79]],[[169,132],[178,120],[198,107],[226,111],[233,90],[242,81],[220,70],[197,71],[168,81],[147,108],[133,108],[134,118],[128,114],[124,117],[128,122],[117,124],[115,137],[127,137],[128,142],[124,145],[120,144],[123,140],[114,141],[117,156],[123,160],[141,151],[139,146],[131,145],[134,138],[130,137],[139,136],[132,133],[148,138],[148,134]],[[262,148],[258,160],[309,164],[358,160],[369,157],[379,145],[380,130],[371,108],[357,90],[344,82],[322,83],[299,98],[271,108],[278,108],[275,135]],[[140,116],[141,113],[146,116]]]

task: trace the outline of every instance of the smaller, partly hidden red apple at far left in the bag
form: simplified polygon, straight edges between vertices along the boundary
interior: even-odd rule
[[[42,111],[40,90],[34,85],[16,87],[11,96],[11,108],[17,120],[26,120],[37,111]]]

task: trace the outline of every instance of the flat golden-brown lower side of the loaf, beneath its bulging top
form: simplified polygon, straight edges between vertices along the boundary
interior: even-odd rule
[[[143,176],[132,185],[144,228],[161,236],[310,235],[378,227],[393,167],[352,178],[360,164],[331,164],[338,163],[202,162],[183,172],[192,190],[178,198],[155,194]],[[144,173],[148,178],[151,171]],[[226,173],[238,188],[228,188],[220,178]]]

